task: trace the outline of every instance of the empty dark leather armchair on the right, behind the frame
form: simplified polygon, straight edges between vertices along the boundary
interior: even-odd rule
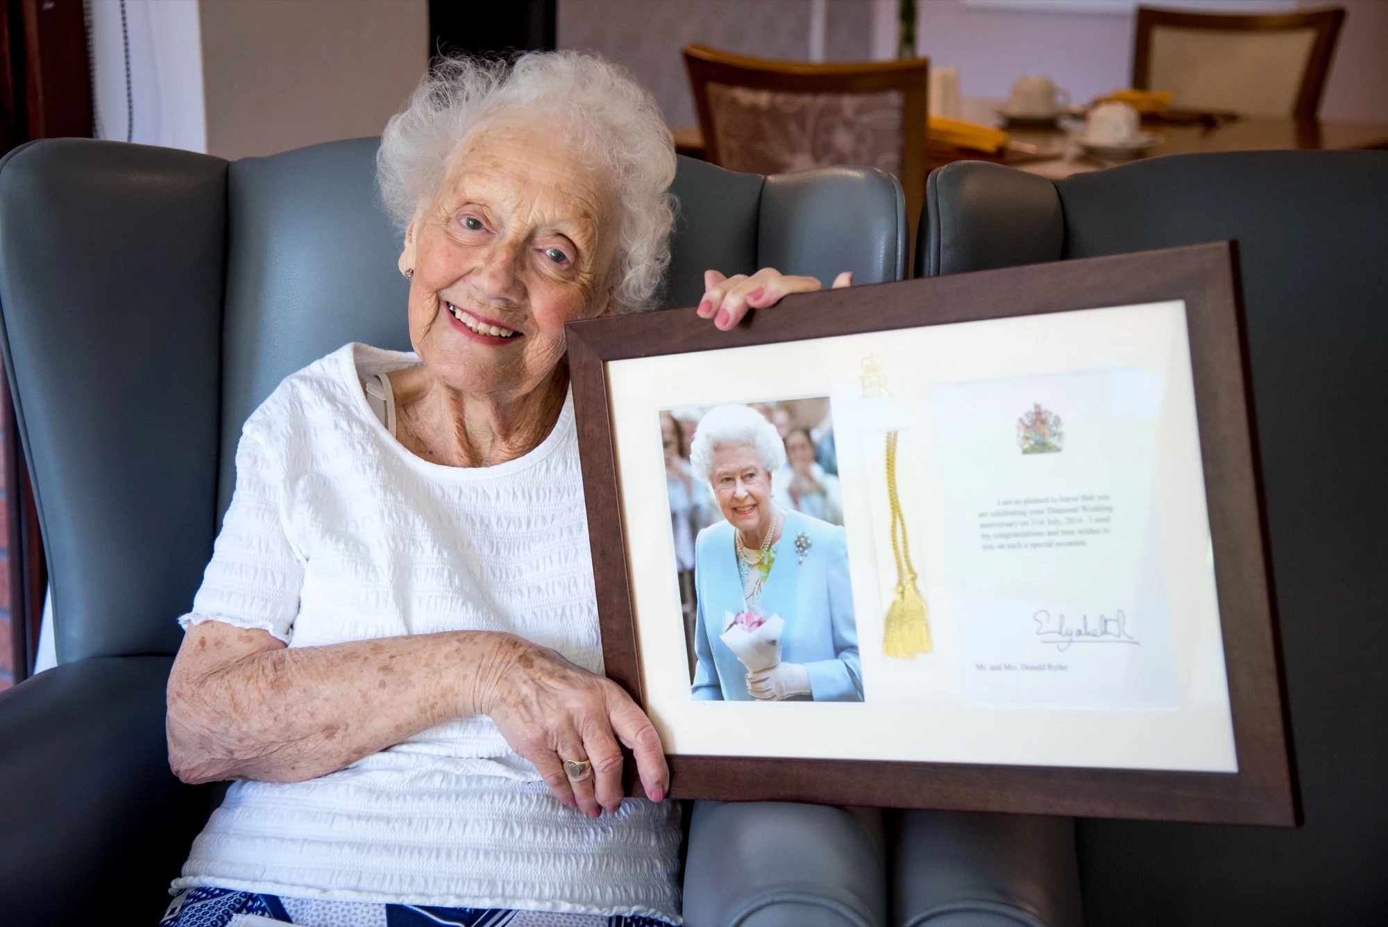
[[[922,275],[1235,239],[1305,826],[1080,820],[1091,927],[1388,923],[1388,151],[927,182]]]

